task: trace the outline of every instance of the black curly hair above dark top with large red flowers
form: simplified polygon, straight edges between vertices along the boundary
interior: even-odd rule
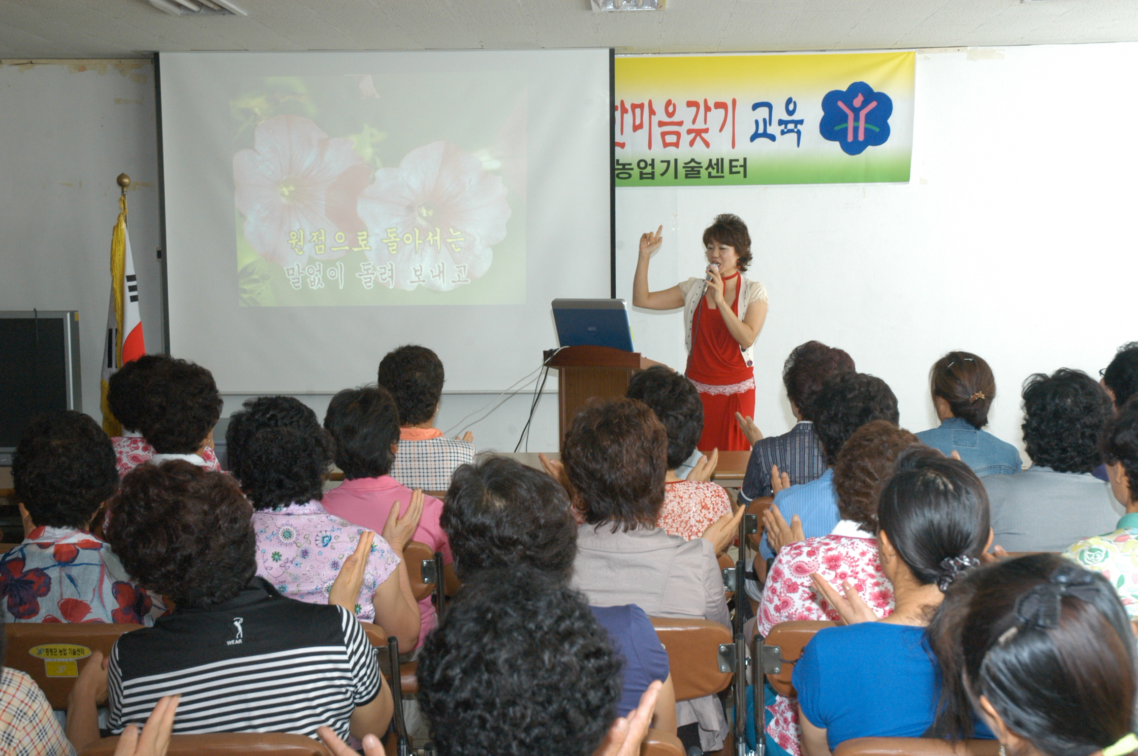
[[[89,416],[40,414],[20,434],[11,458],[16,501],[36,526],[85,528],[118,490],[115,450]]]

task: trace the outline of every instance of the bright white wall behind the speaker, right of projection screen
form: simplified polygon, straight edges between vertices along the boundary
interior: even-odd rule
[[[619,189],[618,296],[630,301],[640,235],[665,224],[651,288],[700,276],[700,238],[737,213],[754,248],[748,276],[770,294],[756,346],[756,414],[768,435],[793,418],[787,353],[809,339],[883,378],[901,425],[935,425],[932,363],[949,350],[991,364],[990,430],[1022,447],[1020,386],[1032,372],[1097,378],[1138,339],[1133,219],[1138,102],[1120,82],[1138,43],[920,54],[907,184]],[[636,347],[684,365],[682,314],[638,311]]]

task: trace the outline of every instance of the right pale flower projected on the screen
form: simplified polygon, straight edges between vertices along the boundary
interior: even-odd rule
[[[380,169],[360,196],[369,257],[389,288],[448,291],[481,278],[505,238],[510,205],[500,176],[445,141]],[[386,269],[386,270],[385,270]]]

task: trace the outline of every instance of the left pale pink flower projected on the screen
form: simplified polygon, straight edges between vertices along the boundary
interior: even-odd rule
[[[356,197],[370,171],[351,139],[330,138],[300,116],[269,118],[254,133],[254,149],[233,156],[245,238],[281,265],[343,257],[363,231]]]

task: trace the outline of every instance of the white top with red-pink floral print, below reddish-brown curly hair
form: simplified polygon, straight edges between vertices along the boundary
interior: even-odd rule
[[[791,543],[778,552],[762,589],[758,634],[766,636],[781,622],[839,618],[815,591],[810,573],[818,573],[839,590],[849,581],[879,617],[893,613],[893,586],[881,572],[876,539],[858,529],[857,523],[841,520],[830,535]],[[778,696],[767,710],[772,714],[767,733],[787,753],[800,756],[798,702]]]

